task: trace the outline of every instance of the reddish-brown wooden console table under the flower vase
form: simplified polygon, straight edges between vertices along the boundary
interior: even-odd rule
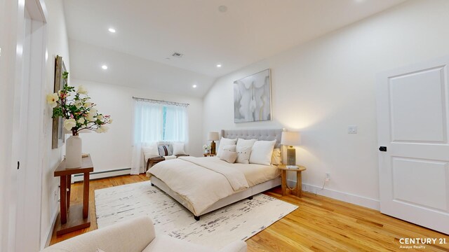
[[[93,172],[91,155],[83,158],[81,167],[65,167],[62,160],[55,169],[55,177],[60,177],[60,222],[56,223],[56,235],[64,235],[68,232],[88,228],[91,226],[89,216],[89,173]],[[70,187],[72,186],[72,175],[83,174],[83,204],[70,206]]]

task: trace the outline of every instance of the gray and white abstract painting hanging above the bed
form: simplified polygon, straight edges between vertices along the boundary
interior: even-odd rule
[[[234,123],[272,120],[270,69],[234,81]]]

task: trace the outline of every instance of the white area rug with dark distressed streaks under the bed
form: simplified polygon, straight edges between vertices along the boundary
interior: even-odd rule
[[[297,206],[258,194],[201,216],[193,214],[149,181],[95,190],[98,228],[147,215],[156,234],[196,244],[222,248],[232,241],[249,239],[297,209]]]

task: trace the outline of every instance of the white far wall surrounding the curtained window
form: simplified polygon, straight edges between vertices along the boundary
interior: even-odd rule
[[[111,115],[113,118],[113,123],[109,125],[107,133],[80,134],[83,139],[83,153],[91,153],[95,166],[94,172],[131,167],[133,97],[190,104],[187,107],[189,144],[186,146],[186,151],[189,155],[201,155],[203,146],[202,99],[120,85],[94,83],[86,80],[72,79],[70,85],[84,85],[92,98],[92,102],[98,104],[98,110],[105,115]]]

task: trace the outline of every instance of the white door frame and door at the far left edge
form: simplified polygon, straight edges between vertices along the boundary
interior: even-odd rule
[[[5,83],[0,97],[2,105],[6,105],[1,114],[8,118],[1,124],[5,152],[1,162],[4,169],[0,174],[0,190],[3,190],[0,196],[0,251],[40,251],[44,245],[41,244],[41,183],[48,15],[43,0],[1,0],[0,6],[3,9],[0,11],[0,64],[6,66],[0,70],[0,80]],[[31,25],[28,59],[23,55],[25,10]],[[22,97],[23,94],[32,95]],[[23,118],[32,123],[21,125]],[[20,140],[22,132],[26,132],[24,140]],[[25,146],[22,146],[24,142]]]

